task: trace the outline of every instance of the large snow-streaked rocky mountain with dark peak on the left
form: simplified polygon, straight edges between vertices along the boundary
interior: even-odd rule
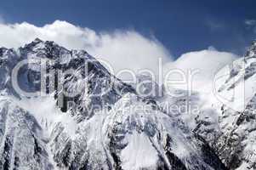
[[[16,92],[11,73],[24,59],[20,88],[44,88],[48,95],[26,98]],[[191,131],[181,113],[162,108],[166,96],[139,96],[85,51],[36,39],[17,51],[0,48],[0,60],[3,169],[227,169],[219,157],[229,165],[207,139]],[[69,70],[72,74],[60,77]]]

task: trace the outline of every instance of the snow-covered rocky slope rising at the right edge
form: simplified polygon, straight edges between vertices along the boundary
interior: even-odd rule
[[[216,99],[196,119],[196,133],[230,169],[256,169],[256,42],[216,75]],[[214,101],[213,101],[214,100]]]

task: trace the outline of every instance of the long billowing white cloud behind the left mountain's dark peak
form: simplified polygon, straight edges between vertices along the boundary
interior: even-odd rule
[[[151,69],[156,71],[158,58],[171,60],[168,50],[156,38],[147,38],[136,31],[96,32],[89,28],[56,20],[43,27],[26,22],[0,24],[0,46],[18,48],[36,37],[50,40],[69,49],[84,49],[98,59],[110,63],[115,71],[123,68],[132,71]]]

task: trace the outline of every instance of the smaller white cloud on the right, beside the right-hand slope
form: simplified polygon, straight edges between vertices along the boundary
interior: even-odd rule
[[[229,65],[237,57],[236,54],[219,52],[217,49],[210,47],[202,51],[182,54],[176,61],[166,64],[164,71],[179,69],[188,76],[189,70],[197,70],[193,76],[192,86],[196,87],[196,91],[208,91],[212,89],[214,74],[225,65]],[[177,74],[173,78],[180,80],[180,76]],[[180,84],[176,84],[174,87],[187,88],[187,86]]]

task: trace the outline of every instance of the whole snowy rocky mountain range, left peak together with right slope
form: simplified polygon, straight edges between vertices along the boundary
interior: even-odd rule
[[[36,39],[16,50],[0,48],[0,167],[254,169],[255,54],[253,43],[244,59],[221,71],[228,75],[218,84],[221,96],[230,97],[229,90],[239,87],[242,77],[251,85],[245,108],[236,110],[232,102],[202,101],[196,92],[189,98],[174,98],[164,91],[141,95],[134,84],[111,75],[87,52],[54,42]],[[13,71],[25,59],[16,76],[23,91],[35,94],[30,97],[18,93],[12,83]],[[41,74],[42,69],[46,74]],[[60,76],[69,70],[70,74]],[[138,76],[139,82],[147,80],[139,88],[142,94],[150,88],[158,91],[149,79]],[[44,93],[38,94],[42,88]],[[236,106],[237,101],[233,101]],[[199,105],[199,110],[190,115],[192,108],[170,112],[164,105],[187,102],[192,108]]]

